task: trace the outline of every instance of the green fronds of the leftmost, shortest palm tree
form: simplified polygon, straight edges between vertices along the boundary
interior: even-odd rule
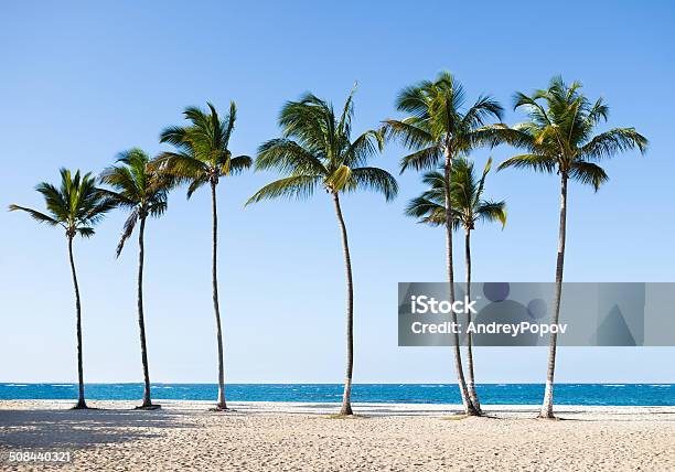
[[[61,186],[47,182],[38,184],[35,190],[42,194],[49,214],[25,206],[10,205],[10,211],[26,212],[39,223],[50,226],[62,226],[66,236],[73,238],[76,234],[83,237],[94,235],[94,226],[115,204],[96,187],[96,179],[92,173],[81,175],[79,171],[72,174],[67,169],[61,169]]]

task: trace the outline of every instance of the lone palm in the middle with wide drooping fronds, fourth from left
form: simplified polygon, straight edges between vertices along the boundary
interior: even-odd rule
[[[398,192],[396,180],[386,171],[366,167],[368,158],[382,150],[382,136],[373,130],[351,140],[354,89],[342,112],[312,94],[288,101],[279,115],[282,137],[258,148],[256,169],[276,169],[287,176],[277,180],[251,196],[247,204],[265,199],[309,197],[317,186],[333,200],[344,250],[346,270],[346,374],[341,415],[352,415],[352,374],[354,367],[354,293],[352,260],[346,225],[340,206],[340,194],[368,189],[384,194],[387,201]]]

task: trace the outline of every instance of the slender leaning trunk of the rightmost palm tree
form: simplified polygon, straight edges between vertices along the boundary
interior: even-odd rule
[[[565,235],[567,229],[567,173],[560,172],[560,227],[558,233],[558,258],[556,261],[556,293],[554,300],[553,324],[558,324],[560,318],[560,300],[562,297],[562,265],[565,262]],[[544,404],[539,418],[555,418],[553,411],[554,404],[554,374],[556,372],[556,347],[558,335],[556,332],[550,334],[548,345],[548,369],[546,373],[546,389],[544,391]]]

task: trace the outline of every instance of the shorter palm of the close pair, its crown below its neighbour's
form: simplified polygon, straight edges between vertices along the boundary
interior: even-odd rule
[[[452,182],[450,193],[452,201],[452,226],[464,229],[464,255],[467,264],[467,297],[471,298],[471,232],[475,223],[500,222],[502,227],[506,224],[506,203],[504,201],[493,202],[483,200],[485,190],[485,178],[492,167],[492,159],[488,160],[480,180],[473,171],[473,163],[467,158],[458,158],[452,163]],[[422,182],[428,190],[416,199],[413,199],[406,207],[406,214],[420,218],[420,223],[433,226],[446,224],[446,199],[443,192],[442,172],[427,172]],[[467,323],[471,322],[471,313],[467,313]],[[473,369],[473,343],[471,333],[467,334],[467,371],[469,371],[469,397],[471,403],[481,412],[481,403],[475,391],[475,376]]]

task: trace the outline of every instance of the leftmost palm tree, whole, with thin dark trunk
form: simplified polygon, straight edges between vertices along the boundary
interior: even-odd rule
[[[82,308],[75,260],[73,258],[73,239],[76,235],[87,238],[92,237],[94,235],[94,226],[114,205],[96,187],[96,179],[92,176],[92,173],[81,176],[79,171],[76,171],[75,175],[72,175],[71,171],[66,169],[61,169],[60,173],[60,189],[47,182],[42,182],[35,187],[44,197],[49,214],[13,204],[9,206],[9,210],[12,212],[17,210],[26,212],[39,223],[45,223],[49,226],[61,226],[65,229],[73,286],[75,288],[75,311],[77,313],[77,378],[79,389],[77,404],[74,408],[85,409],[87,404],[84,395],[84,369],[82,362]]]

